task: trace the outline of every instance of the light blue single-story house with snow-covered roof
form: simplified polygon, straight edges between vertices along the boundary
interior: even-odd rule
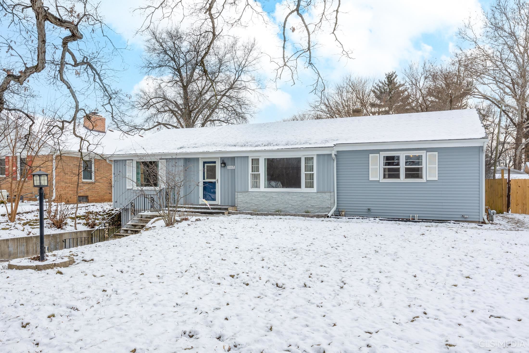
[[[110,157],[113,202],[185,170],[181,204],[482,222],[486,143],[473,109],[162,130]]]

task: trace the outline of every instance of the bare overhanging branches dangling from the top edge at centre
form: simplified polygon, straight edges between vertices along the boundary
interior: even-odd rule
[[[285,16],[281,20],[281,56],[270,56],[276,64],[276,80],[287,78],[292,84],[298,82],[298,65],[309,68],[314,73],[313,92],[323,92],[323,76],[315,61],[314,50],[318,44],[319,33],[331,34],[341,56],[351,58],[339,38],[339,14],[341,0],[288,0],[280,4],[284,7]],[[160,20],[181,20],[191,17],[209,34],[209,42],[200,59],[204,74],[208,75],[205,58],[212,50],[214,43],[221,40],[223,32],[233,27],[244,27],[248,21],[269,22],[268,15],[261,7],[249,0],[150,0],[149,4],[136,9],[144,15],[140,32],[149,30]],[[295,35],[293,33],[296,33]]]

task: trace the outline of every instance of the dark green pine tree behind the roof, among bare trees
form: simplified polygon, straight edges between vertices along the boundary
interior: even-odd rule
[[[379,115],[400,114],[409,111],[409,93],[404,88],[404,83],[398,81],[395,71],[386,73],[385,79],[379,80],[371,92],[375,98],[371,107],[375,108]]]

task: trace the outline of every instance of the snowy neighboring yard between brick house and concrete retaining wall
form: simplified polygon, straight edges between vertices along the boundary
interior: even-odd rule
[[[15,222],[7,221],[7,213],[5,205],[0,204],[0,239],[15,238],[15,237],[26,237],[35,236],[39,234],[39,205],[37,202],[24,202],[19,205],[19,212]],[[7,207],[10,207],[7,204]],[[113,206],[112,202],[101,202],[101,203],[86,203],[79,204],[79,211],[77,212],[77,229],[85,230],[88,227],[85,225],[84,215],[87,211],[95,212],[98,223],[104,221],[112,214]],[[44,221],[44,234],[67,232],[75,230],[74,228],[74,208],[71,210],[68,224],[62,229],[52,227],[49,221]],[[44,217],[46,213],[44,212]]]

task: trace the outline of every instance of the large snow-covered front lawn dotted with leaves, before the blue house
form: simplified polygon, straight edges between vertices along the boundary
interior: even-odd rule
[[[2,265],[0,351],[527,352],[528,224],[156,227],[61,272]]]

